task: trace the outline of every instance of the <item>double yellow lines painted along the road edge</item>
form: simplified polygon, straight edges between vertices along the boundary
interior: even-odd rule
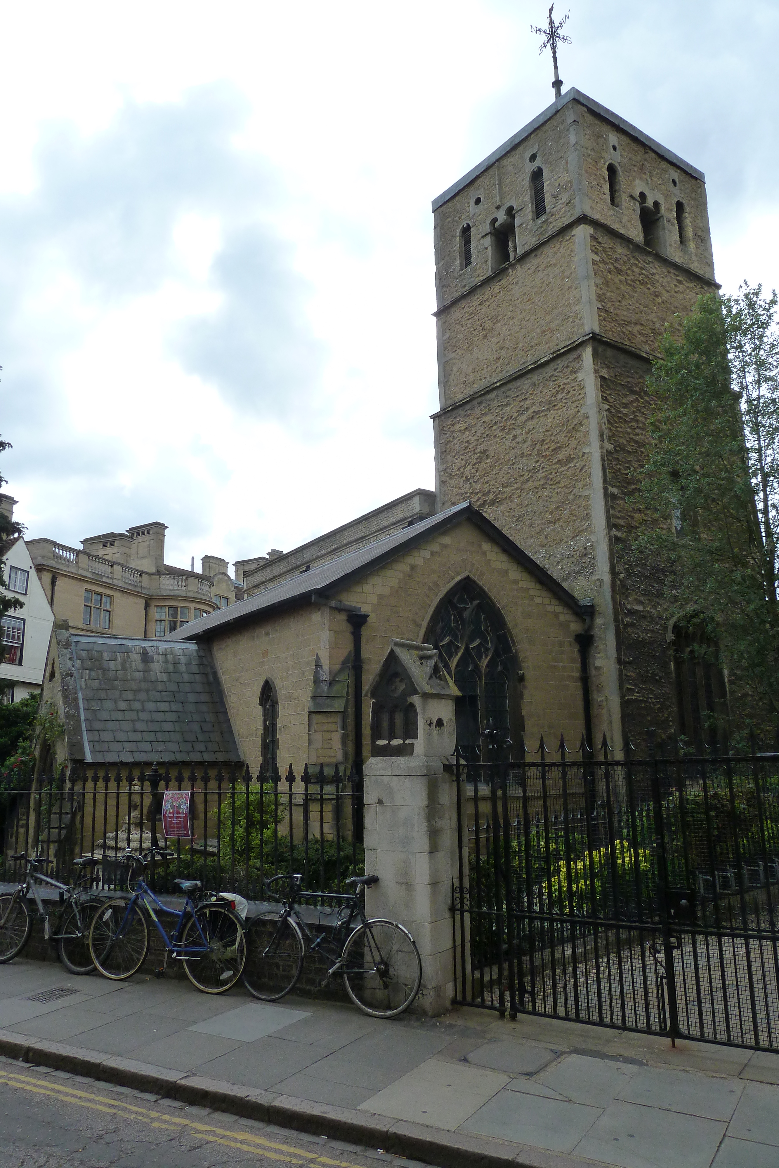
[[[69,1087],[64,1083],[57,1083],[49,1078],[41,1080],[32,1075],[16,1075],[5,1069],[0,1069],[0,1083],[20,1091],[29,1091],[32,1094],[48,1096],[60,1103],[68,1103],[76,1107],[86,1107],[90,1111],[107,1112],[112,1115],[121,1115],[124,1119],[134,1119],[151,1127],[161,1128],[167,1132],[189,1132],[199,1139],[206,1139],[210,1143],[222,1143],[228,1148],[237,1148],[241,1152],[252,1152],[257,1156],[265,1156],[267,1160],[279,1160],[288,1164],[327,1164],[328,1168],[359,1168],[357,1164],[346,1160],[332,1160],[328,1156],[319,1155],[317,1152],[305,1152],[301,1148],[290,1148],[284,1143],[274,1143],[262,1135],[252,1135],[249,1132],[230,1132],[213,1124],[196,1122],[185,1119],[183,1115],[172,1115],[169,1112],[154,1111],[151,1107],[138,1107],[134,1104],[119,1101],[109,1096],[92,1094],[89,1091],[79,1091]]]

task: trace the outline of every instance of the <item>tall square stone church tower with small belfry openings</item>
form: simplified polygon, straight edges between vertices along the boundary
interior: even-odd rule
[[[660,338],[717,287],[704,176],[571,89],[433,213],[438,507],[470,499],[592,598],[594,741],[644,748],[677,705],[631,496]]]

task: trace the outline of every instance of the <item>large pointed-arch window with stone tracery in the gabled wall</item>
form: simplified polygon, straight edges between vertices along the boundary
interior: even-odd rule
[[[506,621],[485,592],[461,580],[438,606],[425,640],[454,679],[457,741],[475,762],[487,725],[515,738],[521,732],[516,652]]]

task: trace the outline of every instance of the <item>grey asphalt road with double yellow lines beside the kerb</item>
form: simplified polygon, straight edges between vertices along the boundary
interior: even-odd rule
[[[424,1168],[0,1058],[0,1168]]]

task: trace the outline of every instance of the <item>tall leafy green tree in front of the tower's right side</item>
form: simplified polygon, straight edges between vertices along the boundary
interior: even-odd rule
[[[747,698],[742,725],[779,714],[777,294],[701,297],[667,332],[648,380],[652,450],[640,499],[669,617],[718,642]],[[750,701],[751,698],[751,701]]]

